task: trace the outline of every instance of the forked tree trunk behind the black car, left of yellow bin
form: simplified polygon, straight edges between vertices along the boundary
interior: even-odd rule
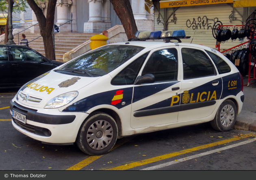
[[[34,11],[37,21],[39,23],[40,34],[43,37],[43,45],[46,53],[46,58],[50,60],[55,60],[55,51],[52,41],[52,29],[54,25],[54,14],[55,6],[57,0],[49,0],[47,7],[46,17],[43,14],[43,11],[35,3],[35,0],[27,0],[29,6]]]

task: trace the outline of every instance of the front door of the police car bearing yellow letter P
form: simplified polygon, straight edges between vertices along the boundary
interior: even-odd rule
[[[151,51],[139,75],[153,74],[155,82],[134,86],[132,128],[178,121],[181,89],[178,64],[178,47]]]

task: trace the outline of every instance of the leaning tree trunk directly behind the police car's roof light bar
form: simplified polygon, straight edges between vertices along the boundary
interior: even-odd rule
[[[134,38],[138,31],[135,19],[132,13],[132,6],[129,0],[110,0],[113,4],[115,13],[123,24],[127,38]]]

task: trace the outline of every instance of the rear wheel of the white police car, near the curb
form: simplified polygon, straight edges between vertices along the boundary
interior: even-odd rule
[[[214,120],[210,121],[216,131],[230,131],[236,122],[237,109],[231,100],[224,101],[217,110]]]

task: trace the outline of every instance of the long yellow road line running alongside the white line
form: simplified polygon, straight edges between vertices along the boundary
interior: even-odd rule
[[[182,150],[182,151],[178,151],[178,152],[172,152],[172,153],[169,153],[169,154],[156,156],[156,157],[153,157],[153,158],[150,158],[150,159],[145,159],[145,160],[142,160],[142,161],[132,162],[132,163],[128,163],[126,165],[121,165],[121,166],[117,166],[117,167],[113,167],[113,168],[105,169],[105,170],[131,169],[131,168],[146,165],[146,164],[149,164],[149,163],[154,163],[156,161],[161,161],[163,159],[168,159],[168,158],[171,158],[171,157],[174,157],[174,156],[179,156],[181,154],[187,154],[189,152],[193,152],[193,151],[197,151],[197,150],[201,150],[201,149],[205,149],[205,148],[210,148],[210,147],[218,146],[218,145],[221,145],[221,144],[226,144],[228,142],[236,141],[236,140],[239,140],[239,139],[244,139],[246,137],[252,137],[252,135],[244,135],[241,138],[240,137],[234,137],[234,138],[231,138],[231,139],[226,139],[226,140],[223,140],[223,141],[218,141],[218,142],[214,142],[214,143],[210,143],[210,144],[206,144],[206,145],[202,145],[202,146],[197,146],[195,148],[190,148],[190,149],[186,149],[186,150]]]

